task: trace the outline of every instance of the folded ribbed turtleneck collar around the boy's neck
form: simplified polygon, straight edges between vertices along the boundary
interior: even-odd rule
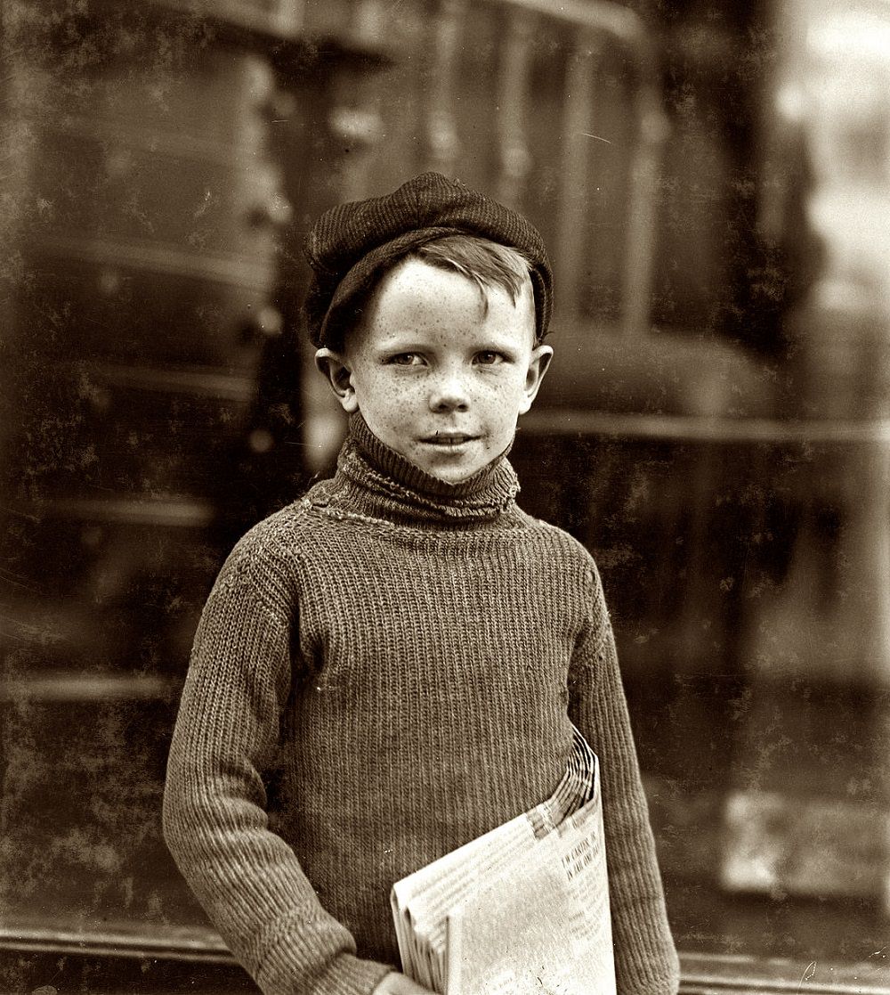
[[[490,520],[512,507],[519,493],[506,453],[465,481],[449,484],[382,443],[360,413],[349,420],[329,485],[330,497],[337,503],[345,498],[360,513],[418,523]]]

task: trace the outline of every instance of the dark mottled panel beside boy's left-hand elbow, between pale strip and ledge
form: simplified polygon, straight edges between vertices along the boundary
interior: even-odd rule
[[[83,930],[175,913],[181,885],[160,831],[173,706],[171,698],[4,705],[4,866],[15,869],[0,882],[6,923]]]

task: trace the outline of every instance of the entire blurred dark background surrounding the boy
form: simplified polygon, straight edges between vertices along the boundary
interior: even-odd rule
[[[166,854],[235,539],[331,471],[301,239],[551,247],[520,502],[601,567],[686,993],[890,991],[890,5],[0,0],[0,991],[248,992]]]

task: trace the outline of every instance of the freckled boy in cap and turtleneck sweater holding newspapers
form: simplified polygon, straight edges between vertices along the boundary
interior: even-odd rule
[[[424,992],[395,969],[391,886],[547,798],[574,722],[603,765],[619,991],[673,993],[599,576],[518,508],[506,460],[552,355],[540,235],[428,173],[327,212],[307,254],[349,436],[210,596],[170,849],[269,995]]]

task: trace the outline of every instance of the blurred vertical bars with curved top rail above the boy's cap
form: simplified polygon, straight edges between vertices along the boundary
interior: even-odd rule
[[[587,209],[587,173],[596,106],[595,90],[601,56],[618,45],[635,76],[632,100],[634,148],[629,164],[629,196],[624,245],[624,334],[638,335],[648,326],[652,286],[652,246],[655,227],[655,181],[661,148],[667,135],[662,110],[658,61],[651,39],[632,11],[608,2],[550,0],[488,0],[508,14],[501,42],[503,56],[497,87],[499,171],[493,192],[515,204],[522,199],[532,156],[529,151],[529,85],[532,41],[539,19],[569,27],[570,44],[560,53],[568,68],[562,104],[563,142],[558,149],[561,189],[557,200],[557,235],[551,247],[559,273],[561,297],[569,307],[578,300],[583,280],[584,250],[580,218]],[[460,158],[456,137],[454,82],[461,28],[469,0],[444,0],[431,25],[434,38],[433,86],[428,108],[428,156],[433,168],[453,173]],[[608,139],[601,139],[608,140]]]

